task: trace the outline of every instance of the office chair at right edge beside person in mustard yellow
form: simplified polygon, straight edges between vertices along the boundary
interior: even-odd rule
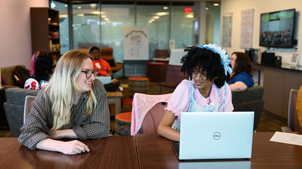
[[[288,102],[288,127],[281,127],[282,132],[292,132],[292,131],[301,131],[302,128],[299,124],[298,114],[297,114],[297,96],[298,91],[291,89],[289,94]]]

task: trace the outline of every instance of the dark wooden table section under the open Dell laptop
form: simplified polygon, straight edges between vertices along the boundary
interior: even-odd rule
[[[302,134],[302,132],[294,132]],[[144,168],[301,168],[302,146],[269,141],[274,132],[253,134],[252,158],[242,160],[178,160],[172,144],[157,134],[136,134],[140,169]]]

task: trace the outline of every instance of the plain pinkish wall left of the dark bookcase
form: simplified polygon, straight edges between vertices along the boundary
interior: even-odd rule
[[[48,7],[48,0],[0,1],[0,67],[22,64],[30,69],[30,7]]]

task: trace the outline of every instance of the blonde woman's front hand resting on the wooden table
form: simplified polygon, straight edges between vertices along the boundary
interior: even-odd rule
[[[58,145],[58,150],[59,152],[62,152],[64,154],[79,154],[81,152],[89,152],[89,148],[86,144],[78,141],[78,140],[73,140],[73,141],[68,141],[68,142],[62,142]]]

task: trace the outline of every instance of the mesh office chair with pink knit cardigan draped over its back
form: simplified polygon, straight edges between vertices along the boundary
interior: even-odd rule
[[[135,93],[132,103],[131,135],[157,134],[157,128],[171,95],[172,93],[162,95]]]

